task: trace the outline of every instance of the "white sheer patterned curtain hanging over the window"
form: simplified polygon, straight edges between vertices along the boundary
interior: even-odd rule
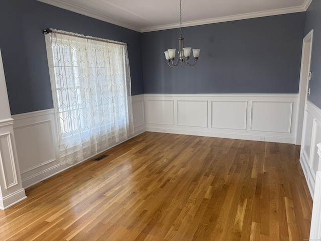
[[[126,44],[57,30],[45,40],[61,163],[82,161],[130,138]]]

